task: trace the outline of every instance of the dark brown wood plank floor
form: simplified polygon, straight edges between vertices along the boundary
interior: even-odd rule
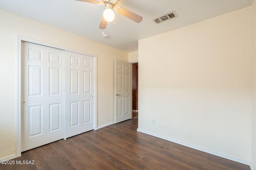
[[[26,152],[0,170],[250,170],[249,166],[137,132],[138,118]]]

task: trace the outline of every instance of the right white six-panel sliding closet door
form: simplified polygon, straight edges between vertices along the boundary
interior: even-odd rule
[[[94,129],[95,57],[66,51],[65,137]]]

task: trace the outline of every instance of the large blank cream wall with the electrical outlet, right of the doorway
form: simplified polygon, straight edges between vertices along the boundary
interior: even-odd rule
[[[248,7],[140,40],[138,131],[248,164],[251,31]]]

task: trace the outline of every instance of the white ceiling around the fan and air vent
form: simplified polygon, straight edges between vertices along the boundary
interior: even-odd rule
[[[104,30],[110,38],[104,39],[102,30],[98,28],[103,5],[75,0],[0,0],[0,8],[4,10],[128,53],[138,50],[139,39],[220,16],[251,4],[252,0],[119,0],[117,6],[143,16],[143,20],[136,23],[116,14],[116,23],[108,23]],[[173,10],[176,11],[177,18],[158,25],[152,21]]]

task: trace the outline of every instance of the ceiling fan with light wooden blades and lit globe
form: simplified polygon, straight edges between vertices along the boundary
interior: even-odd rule
[[[116,7],[116,5],[118,4],[118,0],[101,0],[101,1],[98,1],[98,0],[77,0],[77,1],[104,5],[106,7],[106,9],[103,12],[101,21],[100,21],[100,26],[99,26],[100,29],[106,29],[107,23],[114,20],[115,14],[114,14],[113,9],[115,9],[118,14],[121,14],[122,16],[125,16],[126,18],[129,18],[130,20],[135,21],[137,23],[140,23],[143,19],[143,17],[139,16],[138,14],[135,14],[135,13],[133,13],[129,10],[126,10],[122,7]]]

